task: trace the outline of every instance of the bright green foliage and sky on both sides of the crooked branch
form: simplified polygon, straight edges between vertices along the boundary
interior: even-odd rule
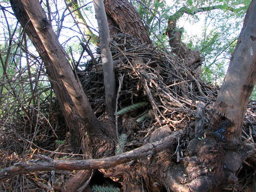
[[[228,68],[230,54],[236,45],[245,12],[251,1],[176,0],[170,2],[144,0],[142,2],[148,9],[137,1],[133,1],[133,4],[146,23],[153,42],[159,46],[163,46],[163,44],[167,46],[168,39],[164,34],[167,20],[178,19],[177,27],[185,28],[182,41],[190,49],[200,51],[202,57],[205,58],[202,66],[202,77],[207,82],[220,84]],[[153,15],[149,9],[155,10],[156,15]],[[204,22],[201,29],[193,28],[197,22],[202,21]],[[197,34],[190,33],[190,30],[196,30]],[[157,37],[153,34],[156,34]]]

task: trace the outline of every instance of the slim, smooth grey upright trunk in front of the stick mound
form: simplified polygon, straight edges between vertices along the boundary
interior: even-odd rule
[[[113,69],[113,59],[110,52],[108,20],[103,0],[94,0],[93,5],[100,33],[101,60],[105,86],[105,103],[108,115],[110,115],[110,117],[114,117],[116,82]]]

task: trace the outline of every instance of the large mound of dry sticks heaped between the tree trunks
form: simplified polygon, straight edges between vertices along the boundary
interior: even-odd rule
[[[196,101],[208,102],[211,106],[217,96],[217,87],[202,81],[196,70],[186,65],[186,60],[161,48],[138,44],[131,36],[119,34],[111,38],[111,52],[116,87],[122,84],[118,111],[148,102],[146,107],[118,117],[121,122],[119,132],[125,129],[128,134],[134,133],[138,137],[135,133],[139,131],[138,140],[153,126],[151,131],[164,125],[172,130],[188,125],[193,127],[191,119],[195,115]],[[79,71],[78,76],[95,114],[101,118],[105,111],[102,65]],[[143,115],[146,118],[140,121]]]

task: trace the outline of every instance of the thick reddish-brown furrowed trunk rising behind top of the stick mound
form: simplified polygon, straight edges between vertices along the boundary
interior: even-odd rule
[[[139,13],[128,0],[105,0],[110,35],[129,34],[140,43],[151,44],[151,40]]]

